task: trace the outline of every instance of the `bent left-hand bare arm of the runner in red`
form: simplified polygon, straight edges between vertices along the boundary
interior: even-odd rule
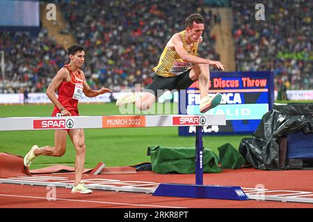
[[[58,87],[61,85],[63,81],[69,81],[69,80],[70,80],[70,72],[67,69],[62,68],[56,73],[56,76],[54,77],[49,87],[47,88],[47,91],[46,91],[47,96],[49,97],[51,102],[54,103],[54,105],[56,105],[56,107],[59,110],[63,108],[63,105],[58,101],[58,98],[56,98],[56,89],[58,89]],[[67,116],[67,115],[70,116],[70,112],[68,112],[67,110],[63,110],[61,113],[64,116]]]

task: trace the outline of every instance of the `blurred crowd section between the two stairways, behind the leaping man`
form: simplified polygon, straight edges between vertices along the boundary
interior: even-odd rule
[[[88,49],[87,76],[113,90],[152,82],[152,68],[163,47],[175,32],[184,30],[184,19],[193,12],[204,13],[202,1],[70,1],[61,3],[65,17],[77,33],[77,41]],[[86,11],[88,10],[88,15]],[[214,56],[214,40],[204,33],[200,53]]]

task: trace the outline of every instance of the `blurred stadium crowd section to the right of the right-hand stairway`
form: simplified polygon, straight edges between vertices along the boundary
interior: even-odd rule
[[[313,88],[313,1],[258,1],[265,21],[255,19],[254,1],[232,1],[236,69],[271,70],[277,88]]]

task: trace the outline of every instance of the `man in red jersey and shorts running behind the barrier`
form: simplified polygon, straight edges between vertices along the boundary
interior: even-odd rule
[[[93,90],[86,83],[85,75],[83,71],[81,71],[86,51],[83,46],[74,44],[67,50],[70,63],[58,71],[46,92],[49,99],[55,105],[51,115],[52,117],[79,116],[77,104],[83,95],[82,92],[88,97],[112,92],[111,89],[106,88]],[[58,98],[55,94],[56,89],[58,90]],[[33,146],[31,151],[24,157],[24,165],[30,167],[31,163],[38,155],[63,156],[66,149],[67,134],[70,136],[74,148],[76,149],[75,183],[72,194],[90,194],[93,191],[86,189],[81,182],[86,155],[83,129],[56,130],[54,133],[55,146],[44,146],[41,148],[37,145]]]

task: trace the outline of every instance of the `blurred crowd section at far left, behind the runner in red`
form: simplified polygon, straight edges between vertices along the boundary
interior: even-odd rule
[[[27,32],[1,32],[0,51],[5,52],[5,89],[0,92],[45,92],[59,67],[67,62],[67,52],[45,29],[38,37]],[[2,81],[1,81],[2,82]]]

